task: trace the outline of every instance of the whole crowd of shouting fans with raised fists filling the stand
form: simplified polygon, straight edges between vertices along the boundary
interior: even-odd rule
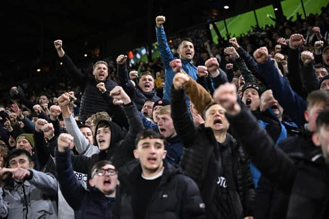
[[[218,45],[157,16],[160,58],[132,67],[54,41],[62,80],[0,106],[0,218],[328,218],[321,11]]]

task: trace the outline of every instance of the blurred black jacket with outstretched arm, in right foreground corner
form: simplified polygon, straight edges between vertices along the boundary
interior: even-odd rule
[[[329,171],[321,148],[305,144],[310,139],[291,137],[285,140],[286,153],[283,152],[247,107],[241,107],[239,114],[227,115],[228,121],[262,175],[289,196],[286,218],[328,218]]]

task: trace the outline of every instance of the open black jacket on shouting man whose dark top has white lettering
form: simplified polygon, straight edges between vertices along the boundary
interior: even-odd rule
[[[215,158],[218,154],[218,143],[210,128],[200,125],[194,127],[187,108],[185,107],[184,90],[171,90],[171,116],[177,135],[184,145],[180,166],[185,174],[190,176],[198,185],[206,204],[207,218],[210,206],[213,205],[215,189],[217,187],[219,165]],[[227,133],[227,144],[231,151],[231,164],[235,188],[240,198],[234,198],[229,203],[235,208],[236,218],[253,215],[254,187],[249,162],[236,140]],[[225,164],[224,164],[225,165]],[[233,215],[232,215],[233,216]],[[232,217],[234,218],[234,217]]]

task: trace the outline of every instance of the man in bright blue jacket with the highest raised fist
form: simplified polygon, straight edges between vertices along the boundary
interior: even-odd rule
[[[165,30],[163,29],[163,24],[166,22],[165,16],[157,16],[155,18],[156,22],[156,37],[158,41],[158,49],[160,51],[160,56],[163,62],[163,65],[166,69],[166,84],[165,91],[163,94],[163,99],[170,100],[170,87],[173,83],[173,77],[175,72],[178,72],[181,68],[183,71],[188,73],[193,79],[196,80],[196,67],[193,65],[194,57],[194,45],[190,38],[182,38],[178,48],[177,53],[179,55],[179,62],[171,63],[175,57],[173,56],[171,49],[169,48]],[[170,64],[171,63],[171,64]],[[180,67],[181,66],[181,67]]]

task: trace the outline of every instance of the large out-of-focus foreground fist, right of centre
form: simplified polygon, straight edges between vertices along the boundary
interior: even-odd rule
[[[213,95],[216,102],[226,109],[226,113],[235,115],[241,111],[237,103],[236,87],[226,83],[218,87]]]

